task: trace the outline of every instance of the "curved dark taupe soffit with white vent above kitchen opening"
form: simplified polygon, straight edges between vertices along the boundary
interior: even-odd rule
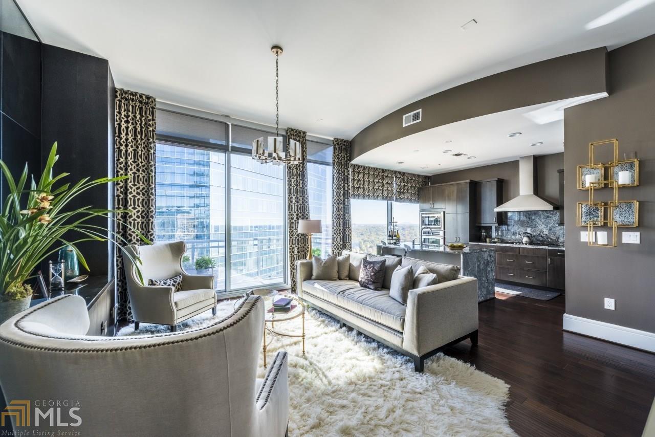
[[[607,49],[594,48],[449,88],[385,115],[350,142],[350,159],[405,136],[508,109],[607,91]],[[403,128],[403,115],[422,121]]]

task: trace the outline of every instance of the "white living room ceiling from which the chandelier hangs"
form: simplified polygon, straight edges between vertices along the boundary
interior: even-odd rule
[[[117,86],[265,124],[282,45],[280,124],[346,139],[451,86],[635,41],[655,18],[651,0],[589,30],[625,0],[17,1],[45,43],[107,58]]]

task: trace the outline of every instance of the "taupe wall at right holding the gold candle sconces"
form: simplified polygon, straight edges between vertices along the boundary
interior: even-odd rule
[[[608,54],[610,96],[565,109],[567,314],[655,332],[655,35]],[[618,138],[620,156],[636,152],[639,187],[620,199],[639,200],[639,227],[618,228],[616,248],[580,242],[576,202],[588,193],[575,186],[576,166],[588,162],[588,143]],[[603,195],[603,193],[599,193]],[[641,244],[622,244],[622,231],[641,233]],[[603,309],[603,298],[616,310]]]

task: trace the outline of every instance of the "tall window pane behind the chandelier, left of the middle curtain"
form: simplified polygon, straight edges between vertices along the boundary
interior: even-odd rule
[[[284,282],[284,166],[230,157],[231,288]]]

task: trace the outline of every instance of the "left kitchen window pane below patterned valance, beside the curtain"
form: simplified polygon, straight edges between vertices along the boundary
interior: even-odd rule
[[[386,238],[386,200],[350,200],[352,250],[375,254],[375,245]]]

